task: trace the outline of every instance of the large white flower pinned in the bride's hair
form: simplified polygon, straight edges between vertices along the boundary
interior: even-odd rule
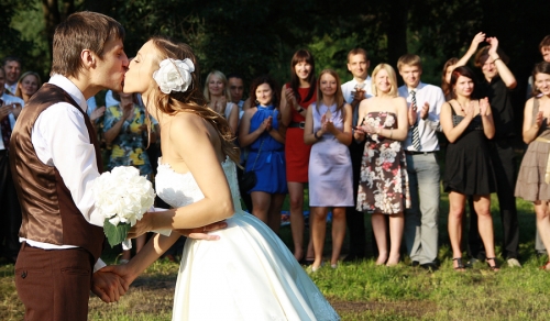
[[[195,65],[189,58],[184,60],[166,58],[161,62],[161,68],[153,73],[153,79],[164,93],[183,92],[193,82],[193,71],[195,71]]]

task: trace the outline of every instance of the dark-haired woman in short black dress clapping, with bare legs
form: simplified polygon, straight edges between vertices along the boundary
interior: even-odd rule
[[[491,193],[496,190],[487,140],[495,135],[495,126],[487,98],[472,97],[474,74],[468,67],[457,67],[451,75],[452,99],[441,107],[441,126],[449,140],[444,191],[449,192],[449,237],[453,252],[453,267],[463,272],[462,214],[468,196],[473,196],[479,218],[479,231],[485,245],[487,264],[493,270],[495,261]]]

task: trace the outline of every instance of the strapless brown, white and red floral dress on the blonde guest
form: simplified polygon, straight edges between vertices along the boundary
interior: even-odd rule
[[[363,124],[396,129],[393,112],[370,112]],[[358,211],[396,214],[410,208],[407,163],[402,142],[381,135],[366,135],[359,178]]]

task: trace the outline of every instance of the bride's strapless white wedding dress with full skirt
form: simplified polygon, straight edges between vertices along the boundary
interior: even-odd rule
[[[204,198],[190,173],[158,162],[156,192],[172,207]],[[222,164],[235,213],[218,241],[187,240],[172,320],[340,320],[279,237],[241,209],[233,162]]]

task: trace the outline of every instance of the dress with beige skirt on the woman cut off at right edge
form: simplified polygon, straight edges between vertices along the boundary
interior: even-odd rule
[[[539,99],[532,102],[532,120],[539,112]],[[532,141],[525,152],[519,174],[517,177],[515,196],[525,200],[550,200],[550,185],[544,181],[544,176],[550,156],[550,126],[542,122],[537,137],[548,142]]]

